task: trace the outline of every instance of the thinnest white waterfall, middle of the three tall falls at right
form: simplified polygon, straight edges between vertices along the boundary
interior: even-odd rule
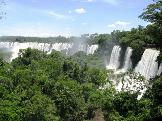
[[[123,66],[123,70],[125,71],[132,68],[132,61],[131,61],[132,51],[133,50],[131,47],[128,47],[126,50]]]

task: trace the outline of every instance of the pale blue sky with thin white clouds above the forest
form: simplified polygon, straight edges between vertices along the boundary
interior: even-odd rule
[[[8,0],[0,36],[79,36],[147,25],[138,16],[152,0]]]

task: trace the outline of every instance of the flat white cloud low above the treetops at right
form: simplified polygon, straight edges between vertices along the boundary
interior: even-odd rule
[[[125,30],[130,28],[131,23],[125,22],[125,21],[116,21],[112,24],[107,25],[108,28],[113,29],[119,29],[119,30]]]

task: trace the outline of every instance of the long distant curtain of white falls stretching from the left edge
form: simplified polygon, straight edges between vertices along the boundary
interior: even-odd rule
[[[74,44],[73,43],[37,43],[37,42],[25,42],[25,43],[19,43],[19,42],[0,42],[0,48],[9,49],[12,52],[11,60],[18,57],[18,53],[20,49],[26,49],[26,48],[32,48],[32,49],[38,49],[41,51],[46,51],[47,53],[51,53],[52,50],[56,51],[65,51],[66,54],[70,53],[70,51],[84,51],[87,50],[87,54],[93,54],[95,50],[98,49],[98,45],[91,45],[85,49],[85,46],[80,44],[78,47],[74,50]]]

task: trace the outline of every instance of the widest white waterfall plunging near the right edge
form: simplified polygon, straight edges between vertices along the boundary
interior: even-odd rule
[[[158,63],[156,59],[159,53],[159,51],[154,49],[146,49],[135,68],[135,72],[140,73],[146,79],[154,78],[158,72]]]

